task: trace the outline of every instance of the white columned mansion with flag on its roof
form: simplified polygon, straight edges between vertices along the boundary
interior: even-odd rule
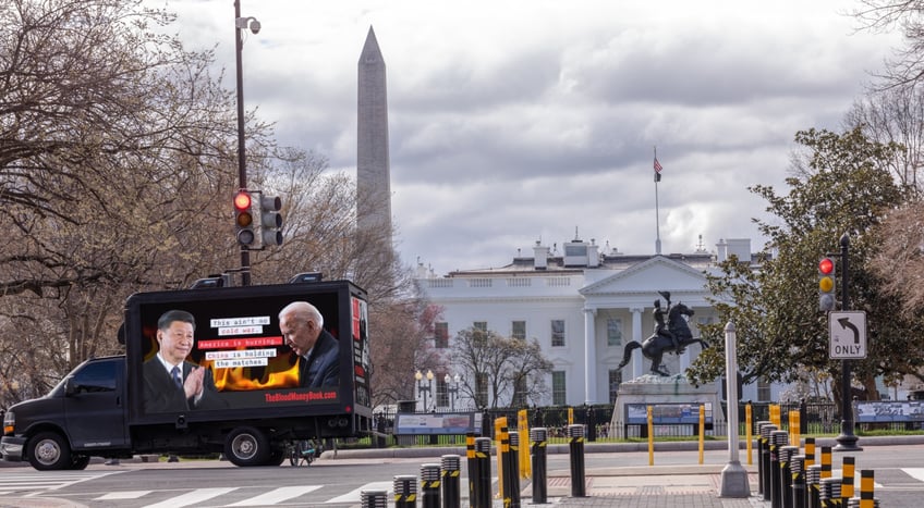
[[[697,337],[700,324],[717,319],[706,300],[704,272],[731,255],[756,259],[750,239],[720,240],[713,252],[701,247],[691,253],[646,256],[600,252],[594,240],[578,238],[564,243],[561,252],[557,246],[550,249],[537,241],[532,257],[516,257],[506,267],[455,271],[442,277],[421,267],[417,282],[429,300],[443,309],[436,327],[437,348],[448,351],[452,337],[472,326],[536,338],[555,364],[546,380],[551,389],[544,405],[607,404],[615,400],[623,380],[651,369],[640,350],[623,369],[617,365],[628,342],[641,343],[652,335],[658,292],[670,292],[672,303],[683,302],[695,311],[689,324]],[[670,373],[683,372],[700,350],[693,345],[679,357],[667,354],[665,365]],[[447,369],[434,376],[434,399],[441,407],[449,405],[446,374],[465,375],[451,364]],[[777,400],[779,391],[779,386],[757,383],[743,388],[742,399]],[[455,406],[467,404],[460,400]]]

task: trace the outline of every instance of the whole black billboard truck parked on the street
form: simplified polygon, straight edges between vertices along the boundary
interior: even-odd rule
[[[77,365],[3,418],[3,460],[221,453],[278,466],[304,439],[372,431],[366,294],[349,281],[138,293],[125,355]]]

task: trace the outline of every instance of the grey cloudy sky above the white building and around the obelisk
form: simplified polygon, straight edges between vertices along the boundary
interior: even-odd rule
[[[851,1],[241,0],[244,98],[283,145],[355,174],[369,26],[388,73],[405,263],[501,267],[576,235],[624,253],[763,244],[755,184],[783,189],[797,131],[840,129],[896,34]],[[233,87],[232,0],[170,0]],[[653,182],[654,148],[664,166]],[[657,210],[657,213],[656,213]],[[659,220],[656,220],[656,216]]]

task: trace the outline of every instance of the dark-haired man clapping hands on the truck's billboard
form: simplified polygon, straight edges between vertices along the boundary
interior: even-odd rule
[[[144,363],[145,412],[221,409],[211,371],[186,357],[193,350],[196,321],[183,310],[169,310],[157,321],[157,355]]]

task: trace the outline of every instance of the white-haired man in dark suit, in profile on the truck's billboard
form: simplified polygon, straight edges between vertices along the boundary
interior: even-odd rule
[[[307,301],[293,301],[279,311],[282,338],[299,356],[299,386],[319,388],[340,384],[340,342],[324,330],[324,317]]]

